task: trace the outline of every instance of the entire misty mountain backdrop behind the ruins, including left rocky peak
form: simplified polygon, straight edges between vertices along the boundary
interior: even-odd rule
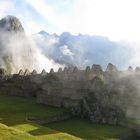
[[[30,71],[60,66],[100,64],[104,69],[111,62],[119,69],[132,65],[135,58],[132,47],[103,36],[49,34],[42,30],[28,38],[18,18],[7,16],[0,20],[0,67],[10,73],[28,68]]]

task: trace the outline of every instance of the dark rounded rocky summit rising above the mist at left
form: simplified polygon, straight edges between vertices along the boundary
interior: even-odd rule
[[[19,19],[15,16],[8,15],[0,20],[0,28],[6,31],[24,32]]]

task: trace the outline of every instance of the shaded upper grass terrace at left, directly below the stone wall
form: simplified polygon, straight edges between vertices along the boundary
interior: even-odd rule
[[[37,104],[35,98],[0,95],[0,122],[7,125],[23,123],[29,116],[47,118],[66,112],[66,109]]]

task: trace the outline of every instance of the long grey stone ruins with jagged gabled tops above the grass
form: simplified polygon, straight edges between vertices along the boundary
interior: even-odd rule
[[[0,69],[2,93],[32,96],[38,103],[70,108],[73,115],[104,124],[120,124],[125,117],[133,118],[134,110],[140,112],[138,82],[138,67],[119,71],[111,63],[105,71],[97,64],[85,70],[65,67],[37,73],[26,69],[13,75]]]

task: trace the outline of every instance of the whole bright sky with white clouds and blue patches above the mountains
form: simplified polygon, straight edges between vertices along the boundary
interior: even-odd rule
[[[0,18],[14,15],[27,34],[41,30],[140,42],[140,0],[0,0]]]

